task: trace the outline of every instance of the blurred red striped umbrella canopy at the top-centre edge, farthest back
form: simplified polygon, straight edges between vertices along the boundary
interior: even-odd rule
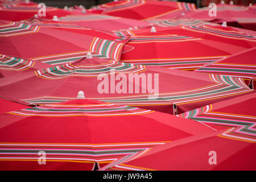
[[[126,0],[96,6],[89,12],[142,20],[166,14],[184,13],[193,9],[195,9],[195,5],[192,3]]]

